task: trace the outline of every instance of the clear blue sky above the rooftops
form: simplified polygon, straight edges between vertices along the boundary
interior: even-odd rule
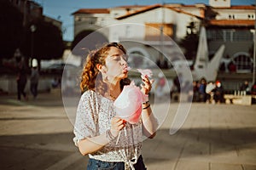
[[[34,0],[44,8],[43,13],[62,22],[63,40],[73,41],[73,13],[79,8],[112,8],[122,5],[152,5],[155,3],[205,3],[208,0]],[[231,0],[231,5],[255,4],[256,0]]]

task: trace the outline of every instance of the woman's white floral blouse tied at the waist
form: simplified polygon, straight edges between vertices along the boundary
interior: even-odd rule
[[[73,130],[74,143],[78,145],[79,140],[105,133],[111,127],[113,116],[115,116],[113,100],[96,94],[92,90],[84,92],[77,109]],[[120,131],[119,140],[117,139],[105,145],[102,150],[89,154],[89,157],[101,161],[124,161],[130,166],[136,163],[142,150],[142,121],[136,124],[125,122],[125,127]]]

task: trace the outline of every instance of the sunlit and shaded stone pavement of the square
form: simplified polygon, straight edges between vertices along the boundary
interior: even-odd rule
[[[170,135],[178,106],[170,105],[156,137],[143,142],[149,170],[256,169],[256,105],[193,103],[183,127]],[[20,102],[0,96],[0,169],[86,169],[88,157],[73,145],[72,131],[61,94]]]

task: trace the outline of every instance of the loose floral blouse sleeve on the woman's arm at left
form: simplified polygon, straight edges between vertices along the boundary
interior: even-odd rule
[[[96,96],[89,90],[79,100],[73,129],[75,145],[78,146],[79,140],[96,136],[97,124]]]

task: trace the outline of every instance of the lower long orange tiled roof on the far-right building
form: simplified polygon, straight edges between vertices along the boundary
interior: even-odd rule
[[[255,20],[209,20],[210,26],[254,26]]]

